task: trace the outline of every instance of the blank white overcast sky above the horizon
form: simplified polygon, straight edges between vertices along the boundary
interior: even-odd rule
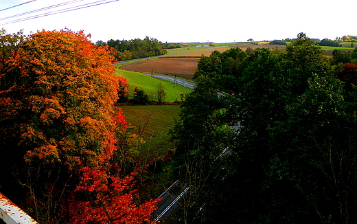
[[[31,0],[0,0],[0,10],[28,1]],[[227,43],[249,38],[255,41],[295,38],[299,32],[320,39],[357,36],[356,0],[119,0],[19,23],[1,24],[100,0],[82,0],[61,8],[3,19],[69,1],[73,0],[36,0],[0,11],[0,28],[9,33],[23,29],[28,34],[67,27],[91,34],[93,42],[150,36],[163,43]]]

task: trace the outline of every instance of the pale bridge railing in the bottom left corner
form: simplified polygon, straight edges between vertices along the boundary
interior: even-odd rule
[[[0,219],[6,224],[38,224],[12,201],[0,193]]]

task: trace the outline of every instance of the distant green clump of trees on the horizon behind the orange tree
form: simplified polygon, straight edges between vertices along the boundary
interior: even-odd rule
[[[159,56],[165,54],[166,49],[182,47],[179,43],[162,43],[148,36],[143,40],[136,38],[130,41],[97,41],[95,45],[111,47],[118,61]]]

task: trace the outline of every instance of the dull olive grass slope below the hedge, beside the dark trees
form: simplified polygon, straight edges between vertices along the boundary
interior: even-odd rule
[[[174,118],[179,118],[180,106],[122,106],[126,121],[133,127],[130,133],[138,135],[145,141],[141,145],[143,150],[150,150],[150,153],[159,155],[157,170],[153,172],[149,168],[146,179],[148,194],[146,199],[158,197],[165,186],[170,185],[170,173],[172,165],[170,155],[174,153],[174,144],[170,142],[168,131],[174,126]],[[151,170],[151,171],[150,171]],[[157,172],[159,171],[159,172]]]

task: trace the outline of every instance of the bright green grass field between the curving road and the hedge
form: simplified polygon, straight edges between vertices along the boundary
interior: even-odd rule
[[[155,98],[155,92],[157,91],[157,85],[159,82],[163,85],[163,88],[166,92],[165,101],[174,102],[181,101],[180,93],[189,93],[192,89],[183,87],[181,85],[174,85],[173,82],[166,80],[160,80],[158,78],[152,78],[146,74],[141,74],[134,71],[126,71],[122,69],[117,69],[116,71],[118,76],[126,78],[129,82],[130,96],[133,97],[133,90],[135,86],[138,86],[140,89],[143,89],[148,95],[149,100],[157,100]]]

